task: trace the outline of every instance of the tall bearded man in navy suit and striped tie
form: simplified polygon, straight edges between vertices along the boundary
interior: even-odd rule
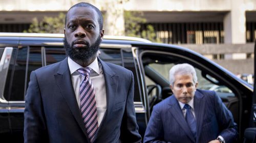
[[[140,142],[133,73],[97,58],[101,12],[78,3],[65,21],[69,57],[30,76],[25,142]]]

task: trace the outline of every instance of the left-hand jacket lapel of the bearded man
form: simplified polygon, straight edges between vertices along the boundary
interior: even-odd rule
[[[60,93],[62,97],[67,102],[73,116],[75,117],[77,123],[82,129],[83,133],[87,136],[86,129],[84,127],[84,123],[82,121],[81,112],[79,106],[77,104],[77,100],[74,93],[74,88],[72,85],[71,74],[68,66],[68,58],[63,60],[60,63],[59,69],[54,75],[57,85],[59,87]],[[88,136],[87,136],[88,138]],[[89,141],[89,140],[88,140]]]

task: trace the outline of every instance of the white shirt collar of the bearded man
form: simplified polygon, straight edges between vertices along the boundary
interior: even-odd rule
[[[70,57],[68,57],[68,65],[69,65],[70,74],[73,74],[78,69],[83,68],[82,66],[74,62]],[[95,71],[98,75],[100,74],[97,58],[95,58],[95,60],[87,67],[90,67],[91,69],[93,69],[93,71]]]

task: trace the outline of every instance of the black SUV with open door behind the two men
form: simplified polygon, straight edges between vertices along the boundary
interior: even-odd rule
[[[2,140],[23,142],[24,98],[30,73],[66,58],[62,39],[62,34],[0,33]],[[104,36],[100,47],[100,59],[134,73],[134,104],[142,136],[153,106],[172,95],[168,71],[180,63],[196,68],[198,89],[214,90],[221,97],[238,124],[239,142],[244,139],[245,129],[254,127],[252,86],[201,54],[180,46],[131,37]]]

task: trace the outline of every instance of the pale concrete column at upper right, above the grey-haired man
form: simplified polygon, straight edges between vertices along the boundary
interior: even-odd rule
[[[231,11],[224,17],[224,43],[246,43],[245,5],[243,0],[232,0]]]

